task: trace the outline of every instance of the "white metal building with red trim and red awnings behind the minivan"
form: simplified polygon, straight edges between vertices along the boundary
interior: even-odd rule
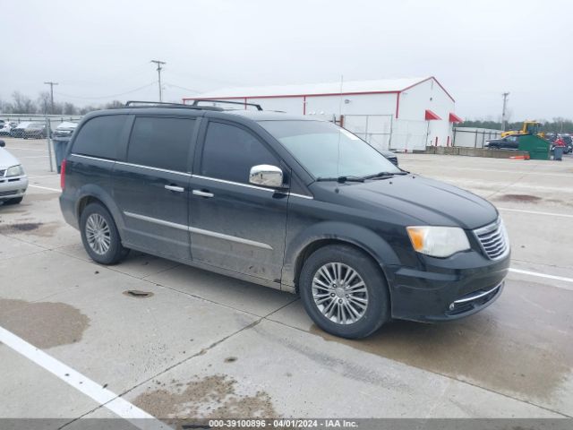
[[[184,103],[196,99],[256,103],[265,110],[320,116],[383,150],[449,146],[452,124],[461,122],[454,114],[455,100],[433,76],[225,88],[185,98]]]

